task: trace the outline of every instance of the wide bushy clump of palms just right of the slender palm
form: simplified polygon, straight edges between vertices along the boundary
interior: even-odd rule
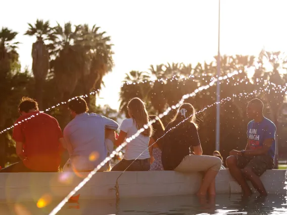
[[[51,62],[52,71],[60,91],[60,98],[68,100],[77,92],[89,95],[91,89],[99,89],[104,75],[113,67],[113,51],[110,37],[99,32],[95,25],[72,26],[70,22],[54,28]],[[86,97],[89,103],[89,96]],[[63,110],[64,111],[64,110]],[[64,113],[63,113],[64,114]],[[64,116],[64,121],[68,116]]]

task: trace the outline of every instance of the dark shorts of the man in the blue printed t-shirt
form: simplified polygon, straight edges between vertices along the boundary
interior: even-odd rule
[[[238,168],[250,167],[258,176],[261,176],[266,170],[272,170],[274,167],[274,160],[269,155],[258,155],[255,157],[236,155],[235,157]]]

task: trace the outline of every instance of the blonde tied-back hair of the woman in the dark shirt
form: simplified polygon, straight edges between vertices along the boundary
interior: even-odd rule
[[[186,112],[184,112],[184,115],[183,115],[181,114],[181,110],[184,110],[184,109],[186,110]],[[175,120],[182,121],[184,119],[187,119],[186,121],[193,123],[198,129],[198,124],[196,123],[196,109],[194,108],[192,104],[189,104],[189,103],[181,104],[178,109],[177,114],[173,117],[171,122],[174,122]]]

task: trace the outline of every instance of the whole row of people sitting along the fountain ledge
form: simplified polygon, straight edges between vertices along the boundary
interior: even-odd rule
[[[70,158],[63,171],[89,172],[121,145],[127,143],[123,159],[112,169],[109,163],[99,171],[160,171],[203,172],[198,195],[215,195],[215,177],[222,165],[222,156],[202,155],[196,111],[192,104],[183,103],[170,123],[163,126],[157,116],[149,116],[145,103],[133,98],[127,105],[129,118],[118,124],[104,116],[87,113],[85,100],[75,97],[68,102],[72,120],[62,134],[57,120],[38,110],[37,102],[23,98],[20,117],[15,123],[13,139],[21,161],[0,172],[58,172],[61,153],[66,149]],[[274,166],[275,125],[263,116],[263,103],[253,99],[248,103],[248,124],[245,150],[230,151],[226,165],[230,174],[251,195],[246,179],[262,194],[267,195],[260,176]],[[147,126],[149,121],[154,123]],[[142,130],[141,128],[144,128]],[[141,129],[141,130],[140,130]],[[135,134],[141,131],[138,136]],[[232,141],[232,140],[231,140]]]

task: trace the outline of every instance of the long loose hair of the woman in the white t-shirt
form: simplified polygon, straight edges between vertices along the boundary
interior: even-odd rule
[[[127,108],[137,129],[141,129],[144,125],[148,124],[149,115],[146,109],[146,103],[143,102],[140,98],[131,99],[127,104]],[[152,133],[153,127],[151,125],[145,129],[145,131],[141,132],[143,136],[148,137],[152,136]]]

